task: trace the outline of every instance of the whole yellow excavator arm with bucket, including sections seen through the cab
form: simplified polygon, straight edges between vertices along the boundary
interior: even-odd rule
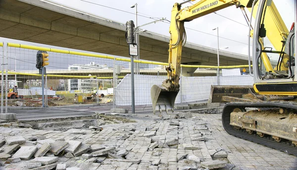
[[[188,0],[185,2],[189,1],[195,0]],[[246,14],[245,7],[251,10],[253,1],[254,0],[200,0],[197,3],[185,8],[181,8],[182,4],[184,4],[185,2],[175,3],[173,5],[171,11],[171,23],[169,27],[169,66],[166,67],[168,78],[163,81],[161,86],[153,85],[151,88],[150,93],[153,105],[153,113],[155,113],[155,110],[159,110],[160,113],[162,112],[162,110],[165,110],[166,113],[168,113],[168,110],[171,110],[173,112],[175,98],[179,92],[180,87],[179,79],[181,72],[182,47],[187,40],[184,23],[232,5],[235,5],[237,8],[240,8],[242,10],[244,17],[248,22],[249,19]],[[267,6],[267,10],[265,13],[263,27],[264,25],[269,27],[269,30],[267,30],[265,36],[268,37],[275,49],[280,50],[280,48],[282,47],[281,41],[287,39],[287,35],[289,32],[273,1],[267,1],[270,1],[272,4]],[[256,12],[257,6],[255,6],[254,8],[254,12]],[[253,16],[255,17],[256,14],[253,13]],[[259,38],[259,41],[262,42],[262,47],[264,48],[261,38]],[[267,54],[262,53],[261,58],[266,71],[273,72],[274,69]],[[284,60],[284,62],[287,61]]]

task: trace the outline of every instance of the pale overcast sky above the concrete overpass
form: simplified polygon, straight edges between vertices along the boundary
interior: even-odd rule
[[[46,1],[46,0],[45,0]],[[138,3],[138,25],[153,21],[149,17],[166,18],[170,20],[171,9],[175,2],[183,0],[49,0],[76,8],[80,11],[90,13],[102,18],[125,24],[128,20],[135,21],[135,8]],[[198,1],[198,0],[197,0]],[[197,2],[194,1],[194,2]],[[194,3],[192,2],[192,3]],[[284,18],[288,28],[294,21],[294,0],[274,0],[281,16]],[[192,5],[184,4],[183,7]],[[248,16],[249,12],[247,10]],[[290,16],[290,17],[288,17]],[[222,51],[247,55],[248,27],[244,16],[239,8],[230,6],[215,13],[197,18],[185,23],[187,41],[190,43],[217,48],[217,32],[212,30],[219,27],[219,47]],[[169,23],[157,22],[141,27],[150,32],[169,37]],[[229,39],[229,40],[228,40]],[[8,40],[9,42],[18,42]],[[22,42],[24,44],[28,44]],[[29,43],[36,45],[36,43]],[[45,46],[49,47],[49,46]],[[228,49],[223,49],[228,47]],[[64,49],[64,48],[63,48]],[[34,63],[33,58],[32,62]],[[13,60],[14,62],[14,60]],[[75,61],[74,61],[75,62]],[[89,63],[89,61],[86,61]],[[102,63],[101,63],[102,64]],[[20,65],[22,65],[20,63]],[[32,65],[34,69],[34,65]]]

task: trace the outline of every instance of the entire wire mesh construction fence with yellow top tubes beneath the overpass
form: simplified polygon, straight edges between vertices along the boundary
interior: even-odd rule
[[[13,43],[0,46],[1,113],[11,107],[42,107],[42,76],[36,67],[38,51],[49,54],[44,77],[46,106],[131,105],[130,58]],[[151,105],[150,88],[167,78],[168,63],[134,60],[133,64],[135,105]],[[182,64],[176,104],[207,100],[211,85],[253,83],[250,75],[243,75],[248,74],[248,65],[220,66],[220,75],[217,68]]]

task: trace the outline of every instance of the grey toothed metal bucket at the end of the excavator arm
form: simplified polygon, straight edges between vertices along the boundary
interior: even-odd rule
[[[178,91],[168,91],[162,86],[153,85],[150,89],[153,113],[155,114],[156,110],[158,110],[160,114],[162,111],[165,111],[167,114],[168,111],[173,112],[177,94]]]

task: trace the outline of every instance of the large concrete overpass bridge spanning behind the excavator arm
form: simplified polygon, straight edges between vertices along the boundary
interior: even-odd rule
[[[0,0],[0,37],[129,57],[126,26],[41,0]],[[168,62],[169,38],[140,33],[140,59]],[[191,43],[182,63],[217,65],[217,51]],[[220,52],[220,65],[247,64],[247,56]]]

